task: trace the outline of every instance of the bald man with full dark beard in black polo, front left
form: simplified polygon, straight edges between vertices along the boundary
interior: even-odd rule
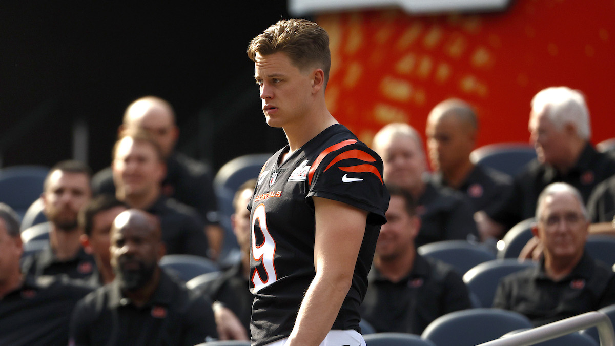
[[[210,302],[159,267],[165,246],[156,217],[119,214],[109,250],[115,278],[77,303],[72,345],[192,346],[217,336]]]

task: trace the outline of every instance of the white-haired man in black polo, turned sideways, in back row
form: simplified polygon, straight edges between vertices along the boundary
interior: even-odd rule
[[[481,227],[510,229],[533,217],[542,189],[554,182],[569,183],[584,203],[593,188],[615,174],[615,159],[598,153],[589,142],[589,111],[581,92],[568,87],[549,87],[531,102],[530,139],[538,158],[514,180],[512,193],[496,211],[486,213]]]

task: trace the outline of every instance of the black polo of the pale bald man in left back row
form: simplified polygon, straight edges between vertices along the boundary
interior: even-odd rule
[[[204,163],[181,153],[167,159],[167,176],[162,194],[193,207],[206,224],[218,223],[218,205],[213,190],[212,170]],[[106,167],[92,177],[94,193],[115,195],[113,172]]]

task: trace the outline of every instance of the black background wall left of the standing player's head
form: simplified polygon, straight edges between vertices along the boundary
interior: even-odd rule
[[[0,1],[1,165],[71,158],[82,121],[98,171],[125,107],[143,95],[172,103],[178,149],[214,169],[277,150],[284,134],[264,123],[245,50],[280,18],[288,18],[284,0]]]

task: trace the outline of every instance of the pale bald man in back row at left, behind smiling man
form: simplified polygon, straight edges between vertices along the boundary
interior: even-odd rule
[[[167,164],[167,174],[161,183],[162,194],[196,209],[205,222],[205,233],[212,249],[208,255],[216,258],[221,251],[223,231],[218,225],[213,174],[205,164],[174,151],[180,131],[170,103],[154,96],[135,100],[126,108],[118,130],[119,134],[124,131],[146,131],[156,140]],[[111,168],[95,174],[92,186],[96,194],[114,194],[116,187]]]

